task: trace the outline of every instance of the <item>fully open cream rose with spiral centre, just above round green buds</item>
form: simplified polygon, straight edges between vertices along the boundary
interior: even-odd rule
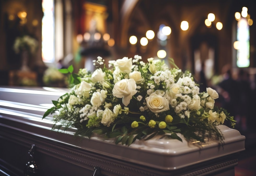
[[[146,102],[149,110],[154,113],[159,113],[170,109],[168,100],[161,95],[157,95],[156,93],[150,94],[150,96],[146,98]]]

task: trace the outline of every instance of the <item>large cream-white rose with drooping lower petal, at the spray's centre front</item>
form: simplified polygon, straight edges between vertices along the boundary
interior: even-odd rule
[[[115,83],[112,90],[113,95],[117,98],[123,98],[122,102],[125,106],[129,105],[132,96],[135,95],[137,85],[133,79],[123,79]]]

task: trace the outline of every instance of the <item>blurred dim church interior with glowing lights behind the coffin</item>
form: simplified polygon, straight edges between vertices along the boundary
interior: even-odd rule
[[[0,0],[0,8],[1,86],[67,87],[58,69],[94,71],[98,56],[173,58],[200,90],[217,90],[246,136],[235,175],[256,174],[256,2]]]

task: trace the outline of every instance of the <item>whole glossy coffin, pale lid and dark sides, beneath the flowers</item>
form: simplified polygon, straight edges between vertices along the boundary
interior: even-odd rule
[[[60,88],[0,88],[0,170],[23,175],[34,144],[37,175],[235,175],[245,136],[220,125],[225,139],[183,142],[155,136],[129,147],[94,135],[74,137],[75,129],[51,130],[44,112],[67,92]]]

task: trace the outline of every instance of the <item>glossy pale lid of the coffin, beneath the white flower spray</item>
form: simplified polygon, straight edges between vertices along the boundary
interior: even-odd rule
[[[183,142],[177,139],[160,139],[161,136],[155,136],[148,141],[136,140],[129,147],[121,144],[116,145],[114,139],[104,139],[96,134],[90,139],[84,137],[83,140],[75,142],[71,140],[74,129],[63,132],[71,136],[67,138],[59,139],[58,135],[44,136],[43,133],[40,133],[40,129],[51,130],[53,125],[52,116],[42,120],[42,116],[47,110],[45,105],[51,104],[51,100],[57,100],[61,94],[68,90],[56,88],[54,91],[59,92],[43,88],[0,88],[0,123],[2,118],[36,126],[38,128],[36,131],[28,132],[124,162],[137,163],[161,170],[180,169],[245,150],[245,136],[224,125],[218,127],[225,137],[223,146],[218,141],[205,140],[205,143],[199,147],[197,144],[200,142],[188,142],[180,134],[178,136],[182,138]]]

